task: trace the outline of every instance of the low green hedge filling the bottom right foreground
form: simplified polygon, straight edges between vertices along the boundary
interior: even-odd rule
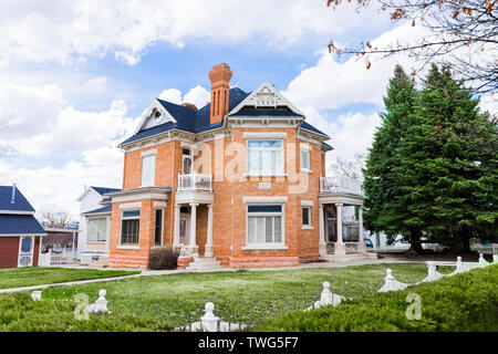
[[[422,319],[408,321],[406,296],[421,296]],[[498,266],[475,269],[404,291],[363,295],[336,308],[289,312],[259,323],[257,331],[498,331]]]

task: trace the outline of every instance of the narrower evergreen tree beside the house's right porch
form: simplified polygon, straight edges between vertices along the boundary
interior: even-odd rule
[[[386,112],[380,114],[382,125],[375,132],[363,171],[365,223],[372,231],[384,231],[388,239],[403,231],[409,236],[409,230],[404,230],[400,210],[402,191],[395,168],[400,166],[396,152],[412,125],[415,94],[411,79],[402,66],[396,65],[384,97]],[[418,230],[412,232],[419,233]]]

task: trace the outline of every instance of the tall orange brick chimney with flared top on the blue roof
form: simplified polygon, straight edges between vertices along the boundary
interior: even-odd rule
[[[230,66],[226,63],[212,66],[209,72],[209,79],[211,81],[210,124],[221,122],[228,113],[228,94],[231,74]]]

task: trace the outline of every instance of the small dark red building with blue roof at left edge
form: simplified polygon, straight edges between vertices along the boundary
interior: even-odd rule
[[[43,227],[15,186],[0,186],[0,268],[35,267]]]

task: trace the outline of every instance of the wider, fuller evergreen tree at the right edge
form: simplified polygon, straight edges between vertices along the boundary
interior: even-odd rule
[[[461,82],[433,65],[397,148],[401,229],[465,246],[497,235],[497,122],[479,113]]]

